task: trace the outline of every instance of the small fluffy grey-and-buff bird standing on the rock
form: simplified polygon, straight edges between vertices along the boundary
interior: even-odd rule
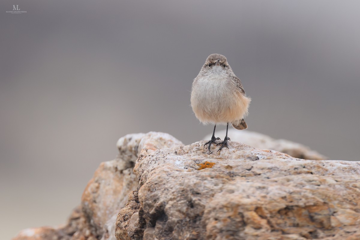
[[[197,119],[204,124],[215,124],[211,140],[205,145],[211,153],[210,146],[215,140],[216,124],[226,124],[226,136],[218,151],[228,148],[229,123],[239,130],[246,129],[244,117],[248,114],[251,99],[245,94],[243,85],[231,69],[228,60],[221,54],[211,54],[206,59],[198,76],[193,81],[191,107]],[[204,145],[204,146],[205,146]]]

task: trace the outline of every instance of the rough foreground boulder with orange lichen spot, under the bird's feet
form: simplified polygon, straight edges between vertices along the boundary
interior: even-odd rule
[[[204,143],[140,154],[118,240],[360,239],[359,162]]]

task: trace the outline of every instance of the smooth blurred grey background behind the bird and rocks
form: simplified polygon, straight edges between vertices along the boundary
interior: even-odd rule
[[[0,2],[2,239],[64,223],[121,136],[211,133],[189,105],[212,53],[253,99],[249,130],[359,160],[359,1],[13,4]]]

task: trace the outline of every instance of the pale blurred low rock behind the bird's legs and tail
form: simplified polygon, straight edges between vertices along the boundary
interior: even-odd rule
[[[216,136],[224,136],[226,131],[217,132]],[[260,149],[272,149],[281,153],[287,153],[294,158],[302,158],[309,160],[327,160],[328,158],[321,155],[317,151],[311,150],[308,146],[304,146],[297,142],[285,139],[273,139],[265,134],[252,132],[248,130],[229,129],[228,136],[232,141],[242,142]],[[211,134],[207,135],[204,140],[210,140]]]

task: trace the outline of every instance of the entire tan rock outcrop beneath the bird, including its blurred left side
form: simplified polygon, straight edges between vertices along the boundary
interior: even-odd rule
[[[359,162],[234,141],[208,154],[204,143],[184,146],[156,132],[122,137],[66,225],[14,239],[360,239]]]

